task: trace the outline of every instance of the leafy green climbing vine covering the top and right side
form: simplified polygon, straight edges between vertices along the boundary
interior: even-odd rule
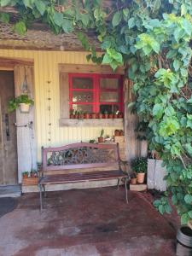
[[[110,4],[108,4],[110,2]],[[1,0],[19,11],[14,29],[26,32],[35,21],[55,32],[76,32],[88,60],[127,67],[139,119],[148,124],[150,149],[166,166],[167,195],[183,224],[192,219],[192,5],[191,0],[54,1]],[[2,22],[13,22],[2,12]],[[102,56],[89,44],[93,32]],[[154,201],[161,213],[171,212],[168,197]]]

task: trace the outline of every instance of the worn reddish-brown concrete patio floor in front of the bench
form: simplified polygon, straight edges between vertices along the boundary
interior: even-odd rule
[[[142,194],[100,188],[23,195],[0,218],[1,256],[173,256],[176,231]]]

